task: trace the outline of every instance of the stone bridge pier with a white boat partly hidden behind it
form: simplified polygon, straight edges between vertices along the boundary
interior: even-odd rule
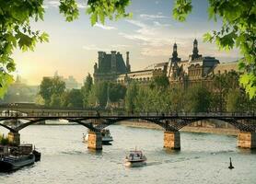
[[[102,150],[101,132],[88,132],[87,148],[94,150]]]

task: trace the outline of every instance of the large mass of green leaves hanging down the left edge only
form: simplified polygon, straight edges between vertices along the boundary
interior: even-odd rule
[[[13,82],[15,62],[12,53],[16,48],[33,51],[36,42],[48,41],[48,35],[32,30],[31,19],[43,19],[42,0],[0,0],[0,97]]]

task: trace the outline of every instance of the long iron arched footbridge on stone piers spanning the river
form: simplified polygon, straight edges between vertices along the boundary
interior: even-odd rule
[[[238,146],[256,148],[256,114],[254,113],[116,113],[85,109],[0,109],[0,126],[9,130],[8,139],[12,144],[20,143],[19,131],[29,125],[47,120],[64,119],[76,122],[89,129],[88,148],[102,149],[100,131],[120,121],[143,120],[162,127],[164,147],[180,149],[180,129],[195,121],[225,121],[239,129]],[[16,127],[4,121],[24,120]]]

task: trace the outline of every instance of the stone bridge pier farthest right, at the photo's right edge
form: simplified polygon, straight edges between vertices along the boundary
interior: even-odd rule
[[[239,132],[238,147],[240,148],[256,148],[256,132]]]

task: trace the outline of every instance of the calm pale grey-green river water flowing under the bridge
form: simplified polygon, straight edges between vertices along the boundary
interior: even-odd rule
[[[166,152],[162,131],[109,128],[114,142],[104,145],[101,153],[87,150],[82,143],[87,129],[80,125],[25,128],[21,142],[36,144],[41,162],[0,174],[0,183],[256,183],[256,154],[238,149],[235,136],[181,132],[180,152]],[[123,166],[125,155],[135,146],[144,151],[146,167]],[[229,156],[233,170],[227,168]]]

